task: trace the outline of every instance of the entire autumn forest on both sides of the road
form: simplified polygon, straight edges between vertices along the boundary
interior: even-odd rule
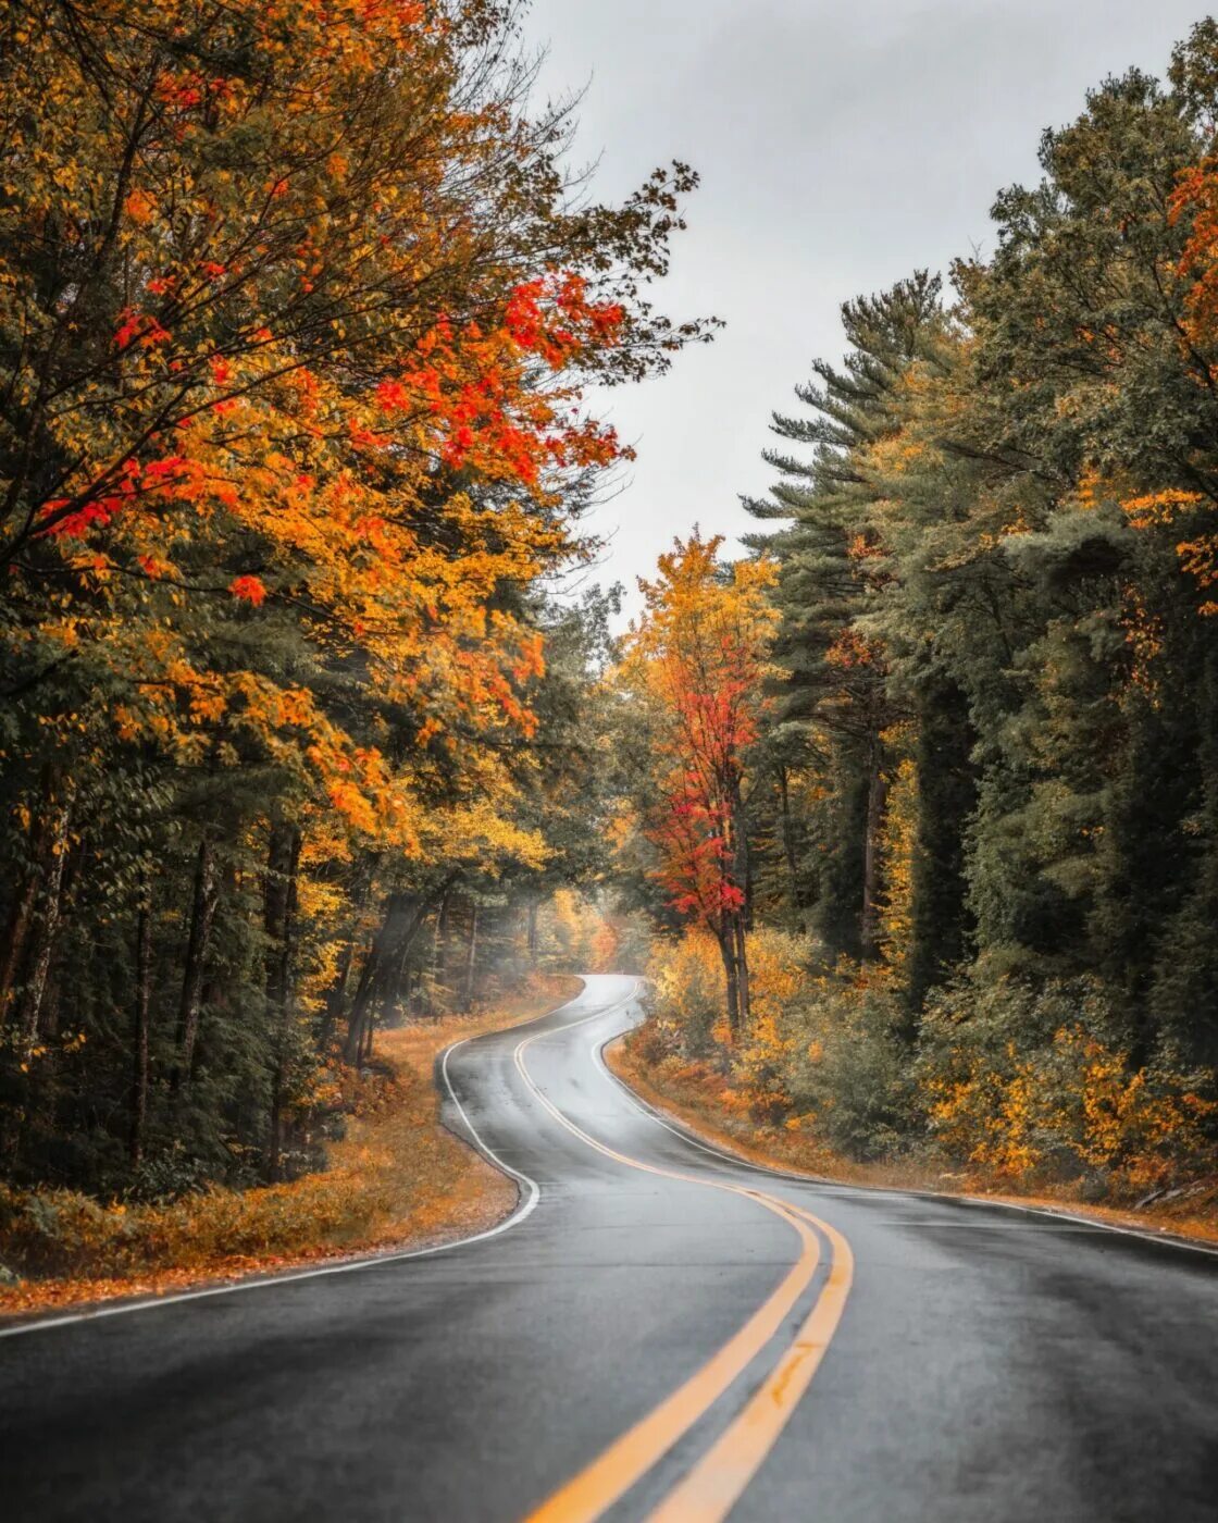
[[[539,963],[746,1130],[1213,1174],[1215,23],[847,303],[624,634],[589,398],[714,337],[688,164],[598,203],[499,0],[0,27],[0,1231],[323,1170]]]

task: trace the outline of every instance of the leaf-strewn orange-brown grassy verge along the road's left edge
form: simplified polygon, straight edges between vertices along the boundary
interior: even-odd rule
[[[432,1083],[452,1042],[518,1025],[571,999],[580,981],[537,976],[493,1011],[385,1031],[330,1167],[285,1185],[212,1189],[171,1205],[102,1206],[41,1197],[0,1237],[0,1263],[37,1278],[0,1285],[0,1316],[163,1295],[206,1282],[478,1232],[507,1215],[516,1186],[440,1124]]]

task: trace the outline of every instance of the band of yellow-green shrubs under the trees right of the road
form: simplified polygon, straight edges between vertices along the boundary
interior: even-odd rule
[[[827,966],[815,943],[749,937],[752,1016],[723,1017],[714,940],[656,946],[635,1054],[703,1107],[807,1133],[860,1162],[921,1157],[1023,1185],[1133,1199],[1218,1171],[1218,1080],[1136,1062],[1098,979],[1032,982],[987,963],[927,1001],[917,1040],[888,966]]]

